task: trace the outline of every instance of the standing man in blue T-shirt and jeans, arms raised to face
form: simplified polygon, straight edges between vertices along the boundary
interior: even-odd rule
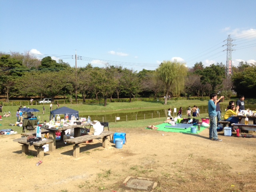
[[[208,112],[210,118],[210,129],[209,129],[209,138],[214,141],[222,141],[218,138],[217,133],[217,119],[216,119],[216,104],[217,104],[217,95],[212,93],[210,95],[210,100],[208,101]]]

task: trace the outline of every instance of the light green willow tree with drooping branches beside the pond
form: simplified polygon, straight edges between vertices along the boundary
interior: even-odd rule
[[[164,104],[167,104],[167,96],[169,92],[179,93],[184,89],[185,77],[187,76],[188,68],[183,62],[177,60],[163,61],[156,69],[157,76],[165,85],[166,97]]]

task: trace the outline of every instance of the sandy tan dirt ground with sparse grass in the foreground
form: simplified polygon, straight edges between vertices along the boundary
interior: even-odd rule
[[[94,140],[80,145],[77,159],[72,156],[73,145],[57,142],[56,151],[38,159],[34,147],[29,148],[32,155],[21,154],[21,144],[12,141],[20,134],[0,136],[1,191],[124,192],[131,191],[122,184],[127,176],[155,179],[158,186],[153,191],[255,191],[253,182],[246,188],[243,180],[248,174],[255,177],[256,138],[219,133],[223,141],[216,142],[208,139],[208,129],[200,134],[144,128],[111,131],[126,132],[127,143],[122,149],[112,142],[104,149],[101,139]],[[36,166],[38,160],[43,161],[40,166]],[[213,167],[205,168],[206,164]],[[232,179],[226,180],[226,175]],[[210,188],[204,189],[206,184]]]

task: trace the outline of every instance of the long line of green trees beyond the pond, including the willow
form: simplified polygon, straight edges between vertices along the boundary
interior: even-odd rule
[[[137,72],[122,66],[74,68],[50,56],[39,60],[30,54],[0,54],[0,94],[8,102],[10,97],[52,98],[66,95],[76,99],[132,98],[166,96],[206,96],[222,92],[231,96],[235,91],[246,96],[255,88],[256,64],[240,62],[233,67],[233,76],[226,78],[222,63],[203,66],[197,62],[192,68],[185,63],[162,62],[156,70]]]

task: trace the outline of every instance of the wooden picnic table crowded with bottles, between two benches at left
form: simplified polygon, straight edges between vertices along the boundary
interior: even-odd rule
[[[49,139],[53,140],[53,143],[49,144],[49,151],[54,151],[54,150],[56,150],[56,132],[57,131],[62,131],[60,140],[63,140],[65,130],[74,128],[74,137],[79,137],[80,136],[80,128],[85,128],[85,126],[90,126],[90,123],[84,123],[81,125],[62,126],[62,127],[58,127],[58,128],[46,128],[46,127],[41,127],[41,128],[50,131]]]

